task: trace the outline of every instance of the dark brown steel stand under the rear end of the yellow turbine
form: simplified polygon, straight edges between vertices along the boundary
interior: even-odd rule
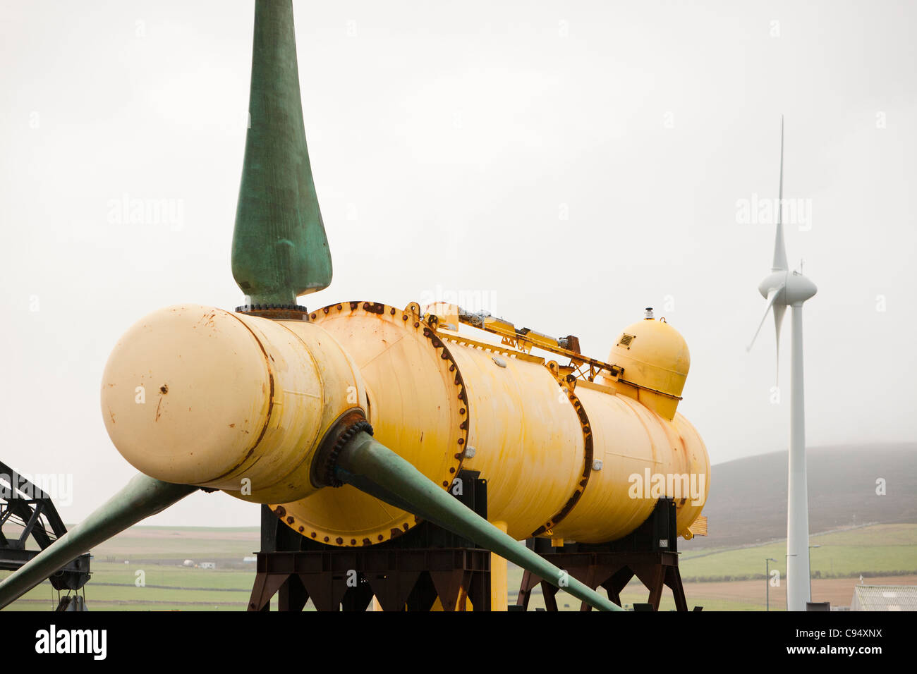
[[[659,610],[662,591],[666,587],[672,591],[676,610],[687,611],[676,540],[675,503],[671,499],[660,499],[649,519],[633,534],[620,540],[597,545],[574,543],[551,547],[547,538],[529,538],[526,544],[592,590],[604,588],[608,598],[618,605],[621,604],[621,591],[636,576],[649,591],[646,603],[653,611]],[[523,573],[519,585],[516,599],[516,605],[521,607],[519,610],[527,610],[532,591],[538,585],[541,585],[547,610],[557,611],[555,595],[558,588],[529,571]],[[580,611],[590,610],[589,604],[580,603]]]

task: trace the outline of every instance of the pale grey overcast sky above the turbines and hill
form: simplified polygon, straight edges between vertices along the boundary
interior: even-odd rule
[[[463,293],[599,359],[653,305],[691,348],[679,411],[712,462],[785,449],[769,319],[746,353],[783,114],[788,258],[819,288],[808,445],[914,437],[914,3],[293,6],[335,268],[302,304]],[[169,304],[241,304],[253,9],[2,2],[0,460],[72,474],[67,522],[136,472],[99,409],[118,337]],[[259,514],[196,494],[149,522]]]

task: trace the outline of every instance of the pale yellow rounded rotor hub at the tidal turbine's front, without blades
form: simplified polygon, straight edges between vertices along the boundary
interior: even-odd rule
[[[199,304],[138,321],[102,381],[105,428],[135,468],[254,503],[315,492],[315,448],[365,401],[359,370],[320,327]]]

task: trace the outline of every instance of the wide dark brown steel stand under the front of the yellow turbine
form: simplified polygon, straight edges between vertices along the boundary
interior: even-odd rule
[[[487,483],[461,470],[457,498],[487,516]],[[469,485],[473,485],[469,488]],[[249,611],[366,611],[375,597],[383,611],[491,610],[491,553],[423,522],[385,543],[333,547],[300,536],[267,506],[261,509],[261,552]],[[466,601],[466,599],[468,601]]]

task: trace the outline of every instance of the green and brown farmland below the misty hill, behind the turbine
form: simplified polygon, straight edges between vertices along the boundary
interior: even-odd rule
[[[821,546],[812,549],[816,576],[812,594],[817,601],[848,605],[860,573],[867,583],[917,584],[917,525],[872,525],[812,536],[811,542]],[[259,547],[255,527],[132,527],[93,550],[93,579],[85,588],[86,601],[95,610],[244,611],[255,570],[254,564],[246,565],[242,558]],[[784,542],[683,553],[680,569],[688,605],[702,605],[705,611],[763,610],[764,559],[781,560],[772,563],[771,569],[778,569],[782,580],[785,554]],[[217,568],[183,567],[184,559],[212,561]],[[138,571],[143,573],[138,576]],[[3,576],[6,572],[0,571]],[[138,577],[145,587],[137,586]],[[521,579],[522,570],[511,565],[507,602],[515,602]],[[10,609],[48,611],[57,605],[56,594],[45,582]],[[663,593],[663,610],[674,608],[670,596],[668,591]],[[622,593],[622,601],[646,602],[646,590],[634,581]],[[782,610],[785,602],[781,581],[779,587],[771,588],[770,605]],[[558,594],[558,605],[569,611],[580,608],[579,601],[563,594]],[[540,592],[533,592],[530,609],[543,606]]]

